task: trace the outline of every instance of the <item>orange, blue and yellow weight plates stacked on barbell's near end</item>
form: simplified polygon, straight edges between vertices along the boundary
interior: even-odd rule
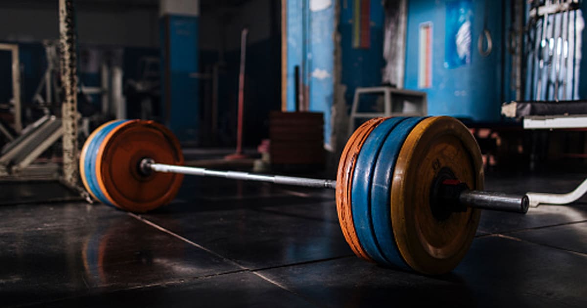
[[[353,252],[421,273],[453,269],[473,241],[480,211],[435,214],[430,196],[441,170],[483,189],[480,150],[458,120],[376,118],[357,128],[336,179],[339,223]]]

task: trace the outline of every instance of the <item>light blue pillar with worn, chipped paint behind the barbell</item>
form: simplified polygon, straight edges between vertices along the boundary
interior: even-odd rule
[[[324,113],[324,142],[330,145],[334,100],[335,2],[287,0],[287,107],[295,110],[295,66],[300,67],[310,111]]]

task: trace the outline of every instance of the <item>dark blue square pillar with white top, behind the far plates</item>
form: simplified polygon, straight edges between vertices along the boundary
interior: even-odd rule
[[[161,110],[181,141],[198,141],[199,0],[160,0]]]

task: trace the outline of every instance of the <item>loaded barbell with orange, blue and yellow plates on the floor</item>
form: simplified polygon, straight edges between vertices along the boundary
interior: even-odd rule
[[[93,198],[146,212],[176,196],[183,175],[336,189],[352,251],[383,266],[450,272],[473,241],[480,209],[525,213],[526,195],[483,191],[481,151],[452,117],[375,118],[349,138],[336,181],[184,167],[180,144],[153,121],[115,120],[90,134],[80,175]]]

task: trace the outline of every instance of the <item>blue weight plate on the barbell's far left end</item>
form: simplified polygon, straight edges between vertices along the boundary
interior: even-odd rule
[[[100,148],[100,144],[102,144],[102,141],[104,140],[104,137],[106,137],[106,135],[114,127],[117,127],[126,121],[127,120],[115,121],[113,123],[108,124],[107,126],[104,126],[100,131],[98,131],[96,133],[96,136],[92,139],[92,141],[90,142],[90,145],[87,148],[86,157],[84,158],[84,162],[83,162],[86,181],[87,181],[87,185],[89,186],[90,190],[96,196],[96,198],[98,198],[98,200],[100,202],[102,202],[103,204],[112,205],[112,206],[114,206],[114,205],[110,204],[110,202],[108,202],[106,197],[104,197],[104,194],[102,193],[102,189],[100,189],[100,186],[98,185],[98,182],[96,179],[96,155],[97,155],[98,149]]]

